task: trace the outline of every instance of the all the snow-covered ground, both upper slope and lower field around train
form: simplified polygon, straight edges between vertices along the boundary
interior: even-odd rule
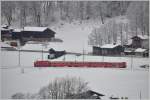
[[[49,44],[47,47],[41,44],[27,44],[22,50],[44,50],[55,47],[58,50],[68,52],[85,53],[91,52],[88,46],[88,35],[94,27],[99,27],[99,21],[90,21],[79,24],[78,22],[64,23],[64,25],[53,26],[56,37],[61,38],[63,43]],[[105,94],[106,97],[126,96],[129,99],[148,99],[148,69],[139,66],[149,64],[148,58],[131,57],[104,57],[85,55],[85,61],[112,61],[127,62],[125,69],[109,68],[34,68],[36,60],[47,60],[48,53],[1,51],[1,73],[2,73],[2,97],[10,98],[16,92],[36,93],[56,77],[76,76],[89,82],[92,90]],[[43,57],[42,57],[43,56]],[[67,54],[56,60],[82,61],[83,56]],[[23,72],[24,69],[24,73]]]

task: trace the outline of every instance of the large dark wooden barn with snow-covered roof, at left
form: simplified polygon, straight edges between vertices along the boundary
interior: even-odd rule
[[[25,41],[50,41],[55,37],[55,32],[47,27],[24,27],[13,31],[14,39]]]

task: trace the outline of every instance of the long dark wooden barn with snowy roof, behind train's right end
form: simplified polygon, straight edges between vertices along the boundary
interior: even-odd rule
[[[105,44],[101,47],[93,47],[94,55],[121,55],[123,51],[123,46],[119,44]]]

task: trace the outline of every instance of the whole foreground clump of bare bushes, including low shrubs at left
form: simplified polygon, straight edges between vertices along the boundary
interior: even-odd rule
[[[42,87],[36,94],[16,93],[12,99],[69,99],[70,95],[86,92],[89,90],[85,82],[80,77],[56,78],[49,85]]]

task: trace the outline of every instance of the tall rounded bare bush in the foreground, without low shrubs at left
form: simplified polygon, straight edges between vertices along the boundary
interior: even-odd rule
[[[56,78],[47,87],[42,88],[39,95],[42,99],[64,99],[70,94],[87,91],[87,84],[81,78],[76,77]]]

